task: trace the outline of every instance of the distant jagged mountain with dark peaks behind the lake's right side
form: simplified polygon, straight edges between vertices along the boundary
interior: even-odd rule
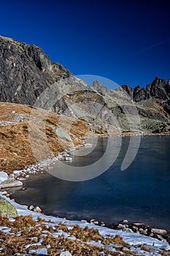
[[[109,90],[95,81],[93,89],[103,95],[104,101],[119,120],[120,127],[127,131],[128,124],[125,116],[140,118],[140,128],[146,133],[161,133],[170,131],[170,80],[156,77],[146,86],[123,85],[119,89]]]

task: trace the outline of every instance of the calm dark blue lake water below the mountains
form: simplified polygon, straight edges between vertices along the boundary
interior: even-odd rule
[[[120,171],[128,143],[129,138],[123,138],[117,160],[97,178],[72,182],[50,174],[34,176],[25,182],[27,190],[17,190],[13,197],[69,219],[94,218],[108,225],[128,219],[170,230],[170,136],[142,137],[134,162]],[[92,156],[101,154],[106,144],[107,139],[101,138]]]

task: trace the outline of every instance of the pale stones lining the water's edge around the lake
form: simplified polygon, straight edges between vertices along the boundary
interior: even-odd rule
[[[151,135],[151,134],[147,134]],[[156,134],[156,135],[169,135],[169,134]],[[122,136],[131,136],[131,135],[122,135]],[[155,136],[155,135],[154,135]],[[92,146],[90,143],[86,143],[85,141],[82,143],[82,145],[77,146],[76,149],[79,149],[82,146]],[[23,182],[27,178],[30,177],[30,175],[39,175],[39,173],[45,173],[45,169],[50,168],[58,159],[62,161],[72,161],[72,157],[70,157],[70,151],[63,151],[58,154],[57,157],[45,159],[42,162],[36,163],[34,165],[28,165],[23,170],[14,170],[13,173],[9,174],[7,176],[7,181],[2,182],[0,184],[0,191],[1,195],[4,195],[6,197],[9,197],[12,199],[12,194],[9,194],[7,190],[11,187],[23,187]],[[7,189],[7,190],[4,190]],[[23,190],[24,187],[22,188]],[[28,210],[42,213],[42,209],[39,208],[39,206],[25,206],[28,208]],[[63,217],[64,218],[64,217]],[[97,219],[88,219],[88,220],[82,220],[82,222],[91,223],[93,225],[98,225],[101,227],[109,227],[115,230],[123,230],[125,233],[139,233],[144,236],[150,236],[152,238],[157,238],[160,241],[163,241],[166,244],[170,244],[170,233],[167,230],[158,229],[154,227],[150,227],[149,225],[144,225],[144,223],[138,223],[138,222],[128,222],[128,220],[123,220],[117,224],[107,224],[101,221],[98,221]]]

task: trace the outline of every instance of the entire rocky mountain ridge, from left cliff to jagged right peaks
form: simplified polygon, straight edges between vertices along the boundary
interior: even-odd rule
[[[88,86],[36,45],[7,37],[0,37],[0,101],[82,119],[101,135],[170,131],[170,80],[156,77],[146,89]]]

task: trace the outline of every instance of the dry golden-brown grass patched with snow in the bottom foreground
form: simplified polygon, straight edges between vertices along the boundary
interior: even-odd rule
[[[115,238],[110,238],[111,240],[104,239],[99,233],[98,230],[89,229],[88,227],[83,230],[77,225],[74,226],[73,230],[68,230],[65,225],[55,225],[55,230],[52,227],[46,227],[45,221],[39,219],[35,222],[31,216],[28,217],[17,217],[15,222],[9,222],[7,218],[0,217],[0,225],[4,225],[11,228],[12,235],[0,232],[0,246],[3,248],[1,255],[9,256],[15,255],[15,253],[28,253],[30,249],[38,249],[39,247],[47,246],[50,244],[50,248],[47,249],[49,256],[60,255],[61,249],[68,250],[71,252],[72,256],[99,256],[101,252],[104,252],[106,255],[117,256],[120,255],[120,252],[110,252],[108,249],[105,249],[102,244],[120,244],[119,249],[123,252],[123,255],[135,255],[134,252],[124,251],[123,247],[125,242],[120,236]],[[48,222],[47,222],[48,224]],[[39,241],[40,238],[43,238],[43,231],[47,236],[42,241],[41,246],[34,245],[35,242]],[[76,236],[78,240],[74,241],[70,238],[65,238],[63,235],[55,238],[53,236],[54,232],[58,230],[65,230],[65,232],[70,233],[72,236]],[[21,235],[16,236],[20,231]],[[83,236],[89,236],[88,241],[101,241],[101,246],[93,246],[87,244]],[[34,239],[33,239],[34,238]],[[108,238],[109,239],[109,238]],[[104,243],[104,241],[107,241]],[[124,244],[125,243],[125,244]],[[26,244],[32,244],[26,249]],[[114,246],[113,246],[114,247]],[[115,249],[117,247],[115,246]],[[126,246],[127,248],[127,246]],[[33,254],[34,255],[34,254]]]

